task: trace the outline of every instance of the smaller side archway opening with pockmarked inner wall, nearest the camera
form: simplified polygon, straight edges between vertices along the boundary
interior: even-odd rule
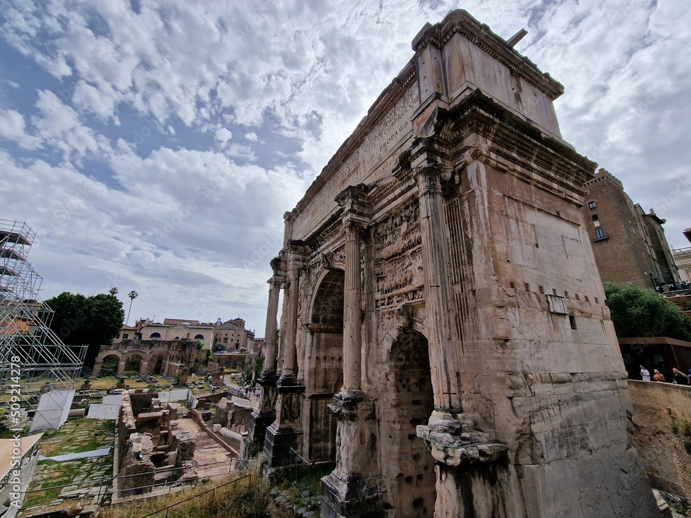
[[[388,486],[384,499],[410,517],[434,513],[434,459],[417,425],[426,425],[434,410],[427,338],[413,329],[399,333],[391,346],[382,405],[382,474]]]

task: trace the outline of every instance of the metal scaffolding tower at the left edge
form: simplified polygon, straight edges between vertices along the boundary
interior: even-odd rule
[[[35,237],[26,223],[0,219],[0,392],[20,381],[28,410],[40,394],[74,390],[86,354],[86,345],[67,346],[50,329],[54,311],[39,298],[43,279],[27,260]]]

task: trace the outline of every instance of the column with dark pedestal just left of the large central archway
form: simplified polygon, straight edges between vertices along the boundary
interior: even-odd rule
[[[301,241],[287,244],[288,278],[283,291],[281,325],[281,376],[276,381],[278,392],[276,420],[266,430],[264,452],[269,468],[289,466],[295,461],[290,452],[302,451],[301,413],[304,385],[298,385],[297,320],[299,318],[300,281],[307,265],[307,248]]]

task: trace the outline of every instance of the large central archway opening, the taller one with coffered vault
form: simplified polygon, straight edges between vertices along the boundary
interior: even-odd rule
[[[345,272],[330,270],[312,304],[312,354],[307,363],[310,461],[336,461],[337,419],[328,405],[343,385],[343,303]]]

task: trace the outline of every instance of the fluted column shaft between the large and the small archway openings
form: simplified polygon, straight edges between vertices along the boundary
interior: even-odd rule
[[[360,231],[362,225],[345,222],[345,300],[343,311],[343,390],[355,392],[361,386],[361,298],[362,276]]]

